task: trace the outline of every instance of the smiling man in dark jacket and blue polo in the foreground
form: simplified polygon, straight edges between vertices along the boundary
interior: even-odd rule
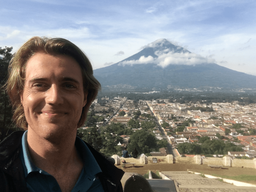
[[[100,83],[77,46],[29,39],[9,65],[17,131],[0,144],[0,191],[123,191],[124,172],[76,137]]]

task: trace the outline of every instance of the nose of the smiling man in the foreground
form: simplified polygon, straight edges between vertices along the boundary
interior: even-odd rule
[[[61,88],[56,84],[52,84],[52,86],[47,90],[46,94],[46,103],[55,105],[63,103],[63,94],[61,92]]]

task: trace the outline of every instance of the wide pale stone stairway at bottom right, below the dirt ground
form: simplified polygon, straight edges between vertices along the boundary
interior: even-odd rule
[[[177,181],[180,192],[256,192],[256,187],[235,186],[186,171],[163,171],[162,173]]]

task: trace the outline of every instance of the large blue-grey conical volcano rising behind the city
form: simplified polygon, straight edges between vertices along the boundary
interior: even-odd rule
[[[138,53],[113,65],[95,69],[94,75],[102,87],[130,85],[137,88],[181,87],[223,87],[256,88],[256,76],[238,72],[215,63],[195,65],[169,64],[164,67],[156,63],[159,53],[168,56],[193,56],[183,47],[175,46],[166,39],[159,39],[144,47]],[[137,64],[140,59],[150,58],[149,62]],[[167,58],[167,57],[166,57]],[[167,60],[163,58],[163,60]],[[191,58],[186,59],[190,60]],[[131,64],[129,64],[129,62]]]

